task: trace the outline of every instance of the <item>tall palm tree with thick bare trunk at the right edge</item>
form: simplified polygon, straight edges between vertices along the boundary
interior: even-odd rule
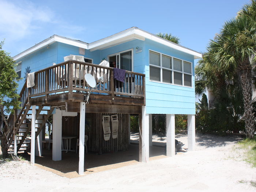
[[[252,72],[256,51],[255,22],[240,14],[226,22],[214,40],[211,40],[208,54],[216,68],[236,71],[242,89],[244,102],[245,134],[254,136],[254,116],[252,113]],[[253,56],[253,57],[252,57]]]

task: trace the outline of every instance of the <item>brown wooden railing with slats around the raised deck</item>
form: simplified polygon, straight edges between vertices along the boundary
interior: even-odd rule
[[[92,94],[115,96],[141,97],[145,95],[145,75],[131,71],[125,72],[124,82],[114,79],[113,68],[85,63],[75,60],[65,61],[35,72],[35,86],[27,90],[30,97],[60,92],[87,93],[89,86],[84,79],[85,74],[91,74],[98,86]],[[25,97],[24,97],[25,98]]]

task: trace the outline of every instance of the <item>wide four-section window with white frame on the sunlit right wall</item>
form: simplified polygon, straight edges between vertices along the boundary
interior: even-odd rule
[[[192,87],[192,63],[150,51],[149,76],[152,81]]]

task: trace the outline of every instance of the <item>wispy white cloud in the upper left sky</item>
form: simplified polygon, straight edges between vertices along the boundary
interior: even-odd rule
[[[20,39],[29,35],[32,29],[41,23],[51,22],[53,12],[48,7],[38,7],[27,1],[0,0],[0,36],[1,38]]]

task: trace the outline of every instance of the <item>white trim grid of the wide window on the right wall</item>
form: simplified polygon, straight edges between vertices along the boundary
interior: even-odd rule
[[[160,54],[160,66],[150,64],[150,52],[155,52],[155,53],[159,53],[159,54]],[[172,58],[172,69],[162,67],[162,55]],[[181,60],[182,71],[174,70],[174,68],[173,68],[173,59]],[[186,72],[183,72],[183,71],[184,71],[184,69],[183,69],[183,68],[184,68],[184,61],[191,64],[191,65],[190,65],[191,74],[186,73]],[[148,75],[149,81],[151,81],[151,82],[157,82],[157,83],[163,83],[163,84],[172,84],[172,85],[181,86],[181,87],[193,88],[193,82],[192,82],[192,80],[193,80],[193,78],[192,78],[192,77],[193,77],[193,69],[192,69],[193,63],[192,63],[192,62],[187,61],[187,60],[183,60],[183,59],[180,59],[180,58],[177,58],[177,57],[173,57],[173,56],[170,56],[170,55],[168,55],[168,54],[164,54],[164,53],[161,53],[161,52],[158,52],[158,51],[155,51],[155,50],[149,49],[149,50],[148,50],[148,63],[149,63],[149,66],[148,66],[149,74],[150,74],[150,66],[160,68],[160,80],[161,80],[161,81],[150,80],[150,75]],[[172,83],[166,83],[166,82],[163,82],[163,81],[162,81],[162,69],[168,69],[168,70],[172,71]],[[182,74],[182,85],[180,85],[180,84],[174,84],[174,72],[178,72],[178,73],[181,73],[181,74]],[[191,86],[186,86],[186,85],[184,85],[184,74],[186,74],[186,75],[191,75]]]

